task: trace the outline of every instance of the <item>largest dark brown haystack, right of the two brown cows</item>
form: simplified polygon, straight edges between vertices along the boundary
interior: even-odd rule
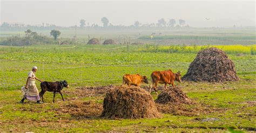
[[[197,54],[191,62],[183,80],[224,82],[239,80],[234,67],[234,62],[228,59],[225,52],[218,48],[207,48]]]

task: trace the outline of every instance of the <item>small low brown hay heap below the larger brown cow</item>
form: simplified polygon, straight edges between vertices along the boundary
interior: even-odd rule
[[[167,88],[161,92],[156,99],[157,103],[187,103],[191,104],[192,101],[187,97],[187,95],[178,87]]]

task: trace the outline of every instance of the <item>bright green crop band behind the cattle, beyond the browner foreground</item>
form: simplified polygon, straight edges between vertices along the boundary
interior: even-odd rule
[[[185,74],[195,57],[194,53],[10,52],[0,54],[0,89],[20,89],[32,66],[38,66],[36,75],[45,81],[67,80],[72,86],[102,86],[122,82],[125,73],[149,77],[152,71],[171,68]],[[230,54],[229,57],[239,75],[255,73],[255,55]]]

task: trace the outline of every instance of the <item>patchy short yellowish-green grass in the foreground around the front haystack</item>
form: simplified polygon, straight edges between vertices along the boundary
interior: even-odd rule
[[[254,75],[255,78],[255,75]],[[98,116],[91,118],[76,118],[70,114],[63,114],[56,109],[69,101],[62,102],[60,95],[56,95],[57,103],[52,103],[52,94],[45,94],[45,104],[19,104],[20,93],[17,90],[3,91],[0,94],[0,118],[2,131],[220,131],[233,127],[235,130],[255,129],[255,106],[248,101],[255,100],[255,80],[241,79],[237,82],[222,83],[184,82],[184,91],[189,97],[199,103],[204,103],[215,111],[198,116],[180,116],[164,114],[163,118],[139,120],[108,120]],[[250,84],[250,85],[248,85]],[[186,87],[186,85],[188,85]],[[239,85],[239,86],[238,86]],[[244,86],[247,85],[247,86]],[[193,88],[191,88],[193,86]],[[204,89],[202,89],[204,87]],[[242,88],[240,88],[242,87]],[[213,88],[213,89],[212,89]],[[75,91],[74,88],[66,91]],[[155,94],[154,94],[155,95]],[[207,96],[207,97],[205,97]],[[3,98],[4,97],[4,98]],[[65,99],[73,97],[64,95]],[[98,98],[96,98],[98,99]],[[88,98],[79,101],[90,101]],[[95,101],[92,98],[91,101]],[[205,121],[206,118],[218,118],[218,121]],[[33,123],[31,125],[30,123]]]

